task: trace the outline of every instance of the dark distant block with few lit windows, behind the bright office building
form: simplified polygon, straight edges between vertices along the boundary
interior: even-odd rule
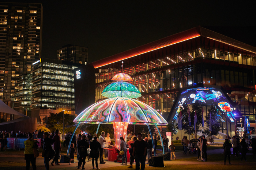
[[[87,64],[88,48],[67,44],[57,50],[57,59],[72,63]]]

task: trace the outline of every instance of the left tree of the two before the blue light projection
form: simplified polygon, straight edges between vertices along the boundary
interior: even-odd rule
[[[196,132],[200,132],[202,130],[199,129],[199,127],[202,124],[202,107],[199,105],[198,101],[196,103],[192,104],[192,111],[190,110],[190,117],[191,117],[191,126],[189,126],[188,121],[188,105],[181,110],[182,113],[182,129],[185,131],[185,134],[191,135],[195,133],[194,130],[194,119],[195,119],[195,111],[197,116],[197,122],[196,122]]]

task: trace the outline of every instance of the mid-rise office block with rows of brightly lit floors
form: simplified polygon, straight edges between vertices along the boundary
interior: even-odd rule
[[[31,116],[42,122],[50,112],[75,114],[73,70],[82,64],[45,58],[33,64]]]

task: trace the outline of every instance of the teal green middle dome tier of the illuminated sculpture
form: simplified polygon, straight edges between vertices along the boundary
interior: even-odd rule
[[[106,98],[139,98],[141,96],[138,88],[128,82],[114,82],[109,84],[102,92],[102,96]]]

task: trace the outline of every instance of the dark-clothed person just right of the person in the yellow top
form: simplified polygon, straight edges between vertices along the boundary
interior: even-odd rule
[[[45,132],[44,133],[44,141],[43,141],[43,153],[42,157],[44,157],[44,163],[45,163],[45,169],[49,170],[49,161],[54,157],[53,155],[53,149],[52,149],[52,144],[54,143],[53,139],[49,138],[49,133]]]

